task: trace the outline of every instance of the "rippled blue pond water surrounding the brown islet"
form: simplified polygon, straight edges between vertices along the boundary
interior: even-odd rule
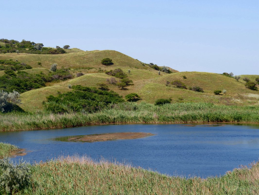
[[[64,142],[65,136],[145,132],[137,139],[103,142]],[[0,132],[0,142],[28,152],[30,163],[60,155],[86,154],[93,159],[131,163],[169,175],[220,176],[259,158],[259,124],[110,124],[64,129]]]

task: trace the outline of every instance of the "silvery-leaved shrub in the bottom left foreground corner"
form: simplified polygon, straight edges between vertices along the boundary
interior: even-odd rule
[[[24,189],[31,185],[31,171],[28,163],[13,163],[9,158],[0,159],[0,194]]]

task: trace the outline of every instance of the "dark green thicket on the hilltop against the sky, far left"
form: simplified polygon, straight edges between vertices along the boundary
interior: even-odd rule
[[[0,39],[0,42],[4,43],[0,45],[0,53],[34,53],[34,54],[66,53],[66,51],[60,47],[56,49],[46,48],[46,47],[43,47],[44,45],[42,43],[34,43],[31,41],[26,41],[24,39],[21,42],[13,39],[12,40]]]

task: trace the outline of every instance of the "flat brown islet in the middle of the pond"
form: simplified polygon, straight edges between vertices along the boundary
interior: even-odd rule
[[[103,134],[92,134],[83,136],[74,136],[67,139],[67,141],[72,142],[102,142],[117,139],[136,139],[147,136],[153,136],[152,133],[142,133],[142,132],[123,132],[123,133],[103,133]]]

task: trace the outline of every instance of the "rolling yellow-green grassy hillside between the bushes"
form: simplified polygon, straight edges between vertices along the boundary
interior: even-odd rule
[[[28,111],[42,108],[42,101],[46,101],[46,96],[57,95],[58,92],[66,92],[71,89],[68,85],[83,85],[98,87],[97,83],[106,83],[110,90],[116,91],[123,97],[129,93],[138,93],[141,101],[154,103],[159,98],[171,98],[172,102],[210,102],[224,105],[258,105],[259,91],[247,89],[244,86],[243,77],[249,77],[252,81],[258,75],[242,75],[241,79],[236,81],[221,74],[207,72],[178,72],[167,74],[150,68],[137,59],[133,59],[123,53],[104,50],[104,51],[82,51],[79,49],[70,49],[70,53],[59,55],[38,55],[27,53],[5,53],[0,54],[0,60],[13,59],[24,62],[33,67],[33,69],[23,70],[28,73],[47,74],[50,66],[57,63],[57,68],[70,68],[74,78],[66,81],[55,81],[47,83],[47,87],[34,89],[21,94],[21,107]],[[111,58],[113,65],[105,66],[101,64],[103,58]],[[41,62],[39,65],[38,62]],[[119,89],[116,85],[109,84],[106,79],[111,76],[105,74],[107,70],[121,68],[127,73],[128,78],[133,80],[134,85],[127,86],[126,89]],[[131,70],[130,74],[128,70]],[[85,75],[76,77],[76,73],[83,72]],[[4,75],[0,71],[0,76]],[[186,76],[186,79],[183,78]],[[119,78],[116,78],[119,81]],[[179,89],[171,84],[166,86],[166,81],[181,80],[187,85],[187,88],[199,86],[203,88],[204,93],[195,92],[188,89]],[[226,89],[225,95],[214,95],[214,90]]]

